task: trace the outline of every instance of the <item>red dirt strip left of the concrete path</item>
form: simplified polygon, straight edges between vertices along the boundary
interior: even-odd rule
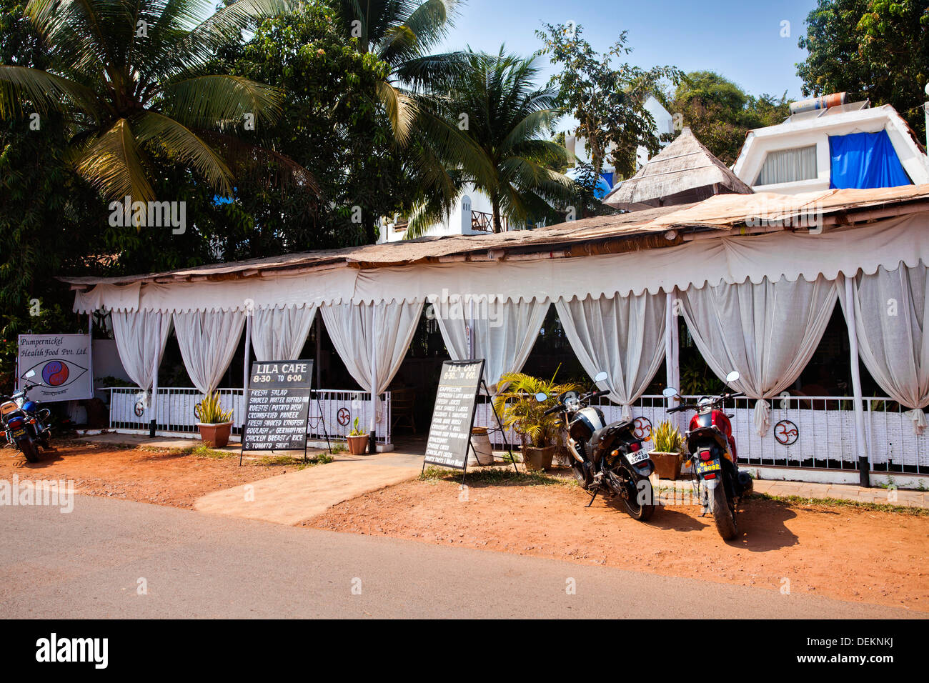
[[[75,493],[123,498],[162,506],[193,508],[204,493],[267,479],[294,466],[261,465],[239,457],[210,458],[177,452],[119,449],[82,442],[59,442],[28,463],[11,448],[0,449],[0,479],[72,479]]]

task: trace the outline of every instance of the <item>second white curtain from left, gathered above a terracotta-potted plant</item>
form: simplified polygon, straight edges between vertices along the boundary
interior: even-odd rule
[[[208,394],[216,388],[239,346],[245,315],[240,310],[174,314],[177,345],[193,386]]]

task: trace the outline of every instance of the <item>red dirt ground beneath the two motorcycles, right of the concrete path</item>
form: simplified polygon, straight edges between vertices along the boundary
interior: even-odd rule
[[[409,481],[304,525],[929,611],[929,517],[751,499],[724,542],[697,506],[643,523],[576,486]]]

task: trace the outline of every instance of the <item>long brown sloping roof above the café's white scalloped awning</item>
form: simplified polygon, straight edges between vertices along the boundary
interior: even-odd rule
[[[792,218],[805,217],[811,205],[831,217],[831,225],[851,225],[855,214],[873,220],[875,209],[886,208],[890,216],[911,213],[912,205],[929,206],[929,185],[908,185],[879,190],[829,190],[815,195],[726,194],[699,204],[680,204],[646,209],[616,216],[597,216],[559,223],[536,230],[514,230],[488,235],[425,237],[394,243],[365,244],[342,249],[308,251],[268,256],[245,261],[208,264],[189,269],[117,277],[61,276],[61,282],[83,288],[94,284],[133,282],[172,282],[226,280],[263,274],[294,274],[308,270],[340,267],[387,268],[416,263],[442,263],[454,260],[503,260],[514,257],[545,258],[618,253],[639,248],[674,246],[685,240],[685,232],[709,230],[713,237],[725,237],[731,229],[744,228],[758,217],[759,209],[775,212],[771,230],[792,230]],[[911,205],[904,212],[892,207]],[[860,221],[858,221],[860,222]],[[785,227],[785,225],[787,227]],[[744,230],[741,230],[744,233]],[[398,258],[402,250],[402,257]],[[479,255],[479,256],[478,256]]]

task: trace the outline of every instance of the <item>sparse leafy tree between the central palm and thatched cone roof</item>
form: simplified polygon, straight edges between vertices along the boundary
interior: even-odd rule
[[[600,54],[581,37],[582,26],[543,24],[536,35],[543,41],[540,54],[549,55],[561,72],[552,77],[558,87],[558,102],[578,125],[575,135],[583,137],[591,164],[599,174],[609,159],[622,177],[635,174],[635,154],[641,145],[649,154],[660,149],[655,120],[645,109],[649,95],[661,82],[677,82],[680,72],[663,66],[641,69],[629,63],[613,64],[628,55],[628,34],[623,31],[606,53]]]

